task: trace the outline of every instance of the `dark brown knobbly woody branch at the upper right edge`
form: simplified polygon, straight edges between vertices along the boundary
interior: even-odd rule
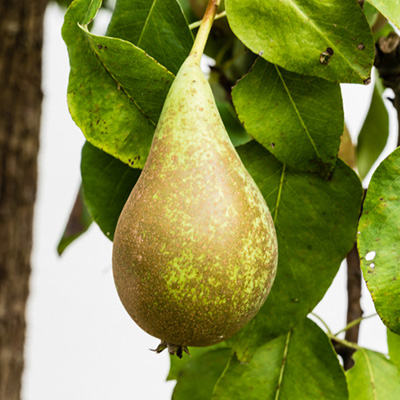
[[[387,37],[379,38],[375,50],[374,65],[379,71],[384,86],[394,92],[392,102],[399,121],[397,146],[400,146],[400,37],[395,32],[391,32]]]

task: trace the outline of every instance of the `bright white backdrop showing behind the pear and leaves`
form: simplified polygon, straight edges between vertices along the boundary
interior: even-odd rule
[[[165,381],[168,355],[148,350],[159,341],[137,327],[122,307],[111,274],[111,242],[93,224],[61,258],[56,253],[79,187],[84,143],[66,104],[69,64],[62,21],[63,11],[50,4],[23,400],[170,399],[174,383]],[[344,85],[353,136],[361,127],[371,89],[372,85]],[[391,123],[396,132],[393,113]],[[342,267],[316,312],[338,331],[345,325],[346,304]],[[366,290],[362,306],[365,315],[374,312]],[[360,344],[387,351],[385,328],[378,318],[363,322]]]

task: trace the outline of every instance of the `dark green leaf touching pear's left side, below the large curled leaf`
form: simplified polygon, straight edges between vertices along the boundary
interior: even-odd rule
[[[83,146],[81,173],[85,203],[94,221],[110,240],[114,238],[119,214],[140,172],[88,142]]]

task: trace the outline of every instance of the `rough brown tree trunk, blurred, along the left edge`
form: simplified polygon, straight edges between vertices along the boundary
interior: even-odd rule
[[[0,1],[0,399],[20,398],[47,0]]]

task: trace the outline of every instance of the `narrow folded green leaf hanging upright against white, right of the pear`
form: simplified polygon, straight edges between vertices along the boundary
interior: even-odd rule
[[[384,87],[379,77],[375,82],[371,105],[357,141],[357,167],[361,179],[368,174],[389,136],[389,114],[383,102]]]

